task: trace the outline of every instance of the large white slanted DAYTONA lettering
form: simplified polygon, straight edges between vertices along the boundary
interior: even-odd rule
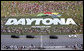
[[[35,22],[35,25],[40,25],[41,22],[44,25],[76,25],[72,18],[20,18],[19,20],[16,18],[9,18],[5,25],[31,25],[32,22]]]

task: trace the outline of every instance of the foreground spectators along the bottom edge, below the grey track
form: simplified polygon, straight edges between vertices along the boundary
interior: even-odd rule
[[[73,50],[83,50],[83,44],[79,44],[80,47],[78,46],[78,44],[72,45],[72,46],[61,46],[59,48],[72,48]],[[2,49],[5,50],[32,50],[32,49],[47,49],[45,47],[40,47],[40,46],[34,46],[33,44],[31,44],[30,46],[17,46],[17,45],[11,45],[11,46],[5,46],[3,45],[1,47]],[[55,49],[55,47],[53,47],[53,49]]]

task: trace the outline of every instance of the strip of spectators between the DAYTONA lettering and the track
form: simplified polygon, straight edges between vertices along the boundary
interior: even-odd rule
[[[27,28],[27,27],[9,27],[9,26],[1,26],[2,33],[16,33],[16,34],[56,34],[56,33],[71,33],[76,34],[79,32],[83,32],[82,28],[70,28],[70,27],[54,27],[54,28]]]

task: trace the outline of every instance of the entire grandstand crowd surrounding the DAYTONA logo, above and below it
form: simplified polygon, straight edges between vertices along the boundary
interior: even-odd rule
[[[25,15],[25,14],[36,14],[42,12],[59,12],[62,16],[66,15],[67,17],[71,17],[75,20],[78,26],[75,28],[73,27],[54,27],[54,28],[27,28],[27,27],[9,27],[3,26],[5,24],[5,20],[1,20],[1,32],[8,32],[8,33],[42,33],[42,34],[49,34],[49,33],[79,33],[83,32],[83,15],[81,13],[80,8],[83,7],[82,1],[3,1],[1,3],[1,14],[2,16],[16,16],[16,15]],[[4,18],[2,18],[4,19]],[[81,21],[80,21],[81,20]]]

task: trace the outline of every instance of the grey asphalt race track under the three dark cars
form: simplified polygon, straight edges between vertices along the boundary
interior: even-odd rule
[[[42,35],[43,46],[73,46],[83,44],[83,35],[78,35],[77,38],[69,38],[68,35],[56,35],[58,39],[50,39],[49,35]],[[20,38],[11,38],[11,35],[1,35],[1,46],[41,46],[40,35],[35,35],[36,38],[26,38],[26,35],[20,35]]]

